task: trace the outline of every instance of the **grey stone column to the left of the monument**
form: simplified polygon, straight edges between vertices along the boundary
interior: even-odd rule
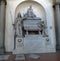
[[[0,2],[0,54],[4,53],[5,2]]]

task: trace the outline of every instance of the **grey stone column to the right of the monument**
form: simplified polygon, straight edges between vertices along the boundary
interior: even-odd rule
[[[60,49],[60,5],[55,5],[57,49]]]

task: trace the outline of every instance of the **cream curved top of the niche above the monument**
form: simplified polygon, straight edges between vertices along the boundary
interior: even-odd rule
[[[29,4],[28,4],[29,3]],[[33,5],[34,4],[34,5]],[[38,10],[38,12],[40,12],[40,15],[42,15],[42,14],[44,14],[44,16],[43,16],[43,18],[44,18],[44,20],[46,20],[46,12],[45,12],[45,8],[40,4],[40,3],[38,3],[38,2],[36,2],[36,1],[28,1],[28,0],[26,0],[26,1],[23,1],[23,2],[21,2],[20,4],[18,4],[17,5],[17,7],[16,7],[16,9],[15,9],[15,18],[16,18],[16,16],[17,16],[17,14],[19,13],[19,12],[21,12],[21,11],[23,11],[24,10],[24,7],[26,8],[26,7],[28,7],[29,5],[33,5],[34,6],[34,9],[37,9]],[[37,7],[38,6],[38,7]],[[35,8],[36,7],[36,8]],[[26,11],[26,10],[25,10]],[[38,15],[38,14],[37,14]]]

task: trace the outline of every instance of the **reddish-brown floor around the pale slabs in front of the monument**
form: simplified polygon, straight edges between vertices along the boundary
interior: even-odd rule
[[[40,55],[40,58],[38,59],[29,58],[28,55],[29,54],[24,55],[25,60],[15,60],[16,55],[11,54],[7,60],[3,61],[60,61],[60,51],[57,51],[56,53],[38,54]]]

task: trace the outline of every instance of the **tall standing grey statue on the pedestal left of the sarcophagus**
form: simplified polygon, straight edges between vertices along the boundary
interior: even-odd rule
[[[21,14],[18,13],[18,16],[14,23],[14,29],[15,29],[15,36],[22,37],[22,17]]]

